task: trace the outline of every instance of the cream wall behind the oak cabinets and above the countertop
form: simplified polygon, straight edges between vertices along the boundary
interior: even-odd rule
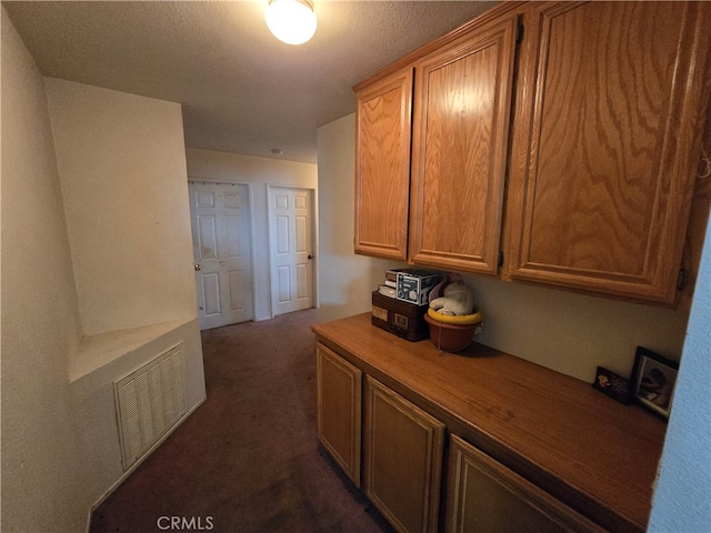
[[[354,134],[354,115],[318,131],[322,320],[370,311],[371,291],[392,264],[353,253]],[[683,311],[483,275],[465,281],[487,316],[479,342],[581,380],[592,383],[598,365],[629,375],[638,344],[681,355]]]

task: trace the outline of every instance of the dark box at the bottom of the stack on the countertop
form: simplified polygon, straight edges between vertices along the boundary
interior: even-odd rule
[[[430,330],[424,321],[429,305],[415,305],[393,298],[388,298],[373,291],[373,325],[394,333],[408,341],[421,341],[430,336]]]

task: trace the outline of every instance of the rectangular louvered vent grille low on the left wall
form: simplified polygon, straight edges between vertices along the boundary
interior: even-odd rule
[[[183,344],[113,383],[123,469],[186,413]]]

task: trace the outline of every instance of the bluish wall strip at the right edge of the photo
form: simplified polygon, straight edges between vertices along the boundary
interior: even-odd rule
[[[711,531],[711,231],[701,259],[650,532]]]

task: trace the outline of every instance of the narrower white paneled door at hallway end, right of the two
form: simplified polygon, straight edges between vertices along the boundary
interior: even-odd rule
[[[313,191],[269,188],[272,314],[313,305]]]

